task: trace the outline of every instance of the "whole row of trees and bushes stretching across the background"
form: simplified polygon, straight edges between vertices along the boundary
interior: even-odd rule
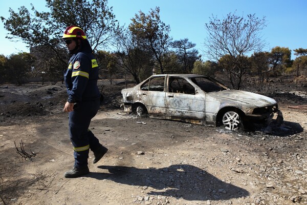
[[[240,89],[250,76],[259,76],[263,81],[268,76],[306,72],[307,49],[295,49],[298,57],[294,61],[289,48],[277,46],[271,52],[260,52],[266,45],[260,33],[266,20],[255,14],[243,17],[229,13],[223,19],[212,15],[206,24],[205,54],[214,61],[203,62],[188,38],[172,42],[170,26],[160,19],[159,7],[147,14],[142,11],[135,14],[128,28],[123,29],[112,7],[107,7],[107,0],[46,0],[47,12],[31,6],[31,10],[24,6],[17,11],[10,9],[8,18],[1,16],[9,32],[7,38],[26,43],[31,55],[23,53],[9,58],[0,55],[0,84],[4,81],[23,84],[29,74],[43,76],[53,83],[62,79],[69,55],[61,37],[70,25],[85,31],[99,61],[100,75],[111,81],[114,75],[122,73],[132,75],[139,83],[152,73],[213,76],[218,71],[228,78],[228,85]],[[113,53],[104,51],[110,43],[116,47]],[[20,76],[15,71],[20,71]]]

